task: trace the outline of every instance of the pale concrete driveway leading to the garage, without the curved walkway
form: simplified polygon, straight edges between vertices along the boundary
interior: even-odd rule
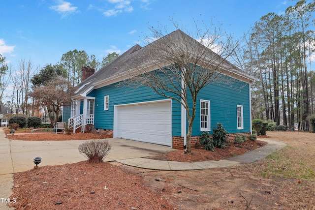
[[[58,135],[58,134],[56,134]],[[0,130],[0,198],[9,198],[13,186],[12,174],[33,168],[33,158],[42,158],[40,166],[62,165],[87,160],[78,147],[86,140],[78,141],[18,141],[5,138]],[[105,161],[147,157],[171,151],[170,147],[125,139],[111,138],[112,150]],[[0,210],[8,209],[0,200]]]

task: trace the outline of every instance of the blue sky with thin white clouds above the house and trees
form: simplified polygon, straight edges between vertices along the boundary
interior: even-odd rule
[[[269,12],[281,14],[296,1],[285,0],[6,0],[0,4],[0,54],[12,66],[56,64],[70,50],[85,50],[101,61],[124,53],[149,35],[149,27],[186,30],[193,19],[213,20],[236,36]]]

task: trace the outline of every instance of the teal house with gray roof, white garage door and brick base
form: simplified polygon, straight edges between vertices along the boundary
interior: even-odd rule
[[[164,37],[176,39],[178,43],[181,42],[180,39],[177,40],[178,37],[197,42],[181,30]],[[67,121],[74,132],[100,132],[115,138],[183,149],[188,132],[187,112],[175,100],[177,96],[169,92],[172,97],[165,97],[146,86],[133,89],[124,85],[124,81],[136,76],[132,72],[140,66],[143,72],[158,72],[157,60],[153,59],[158,58],[155,55],[162,52],[153,49],[162,44],[161,39],[145,47],[131,47],[95,73],[94,69],[83,67],[82,82],[72,96],[71,106],[63,109],[63,121]],[[209,56],[218,57],[211,50],[207,51]],[[231,141],[235,135],[246,135],[249,138],[252,132],[250,89],[254,78],[228,61],[222,62],[223,68],[233,68],[220,72],[220,77],[229,83],[211,82],[199,91],[191,145],[199,141],[202,131],[212,134],[217,122],[222,123],[228,132],[228,140]],[[167,67],[168,64],[161,61],[158,65]]]

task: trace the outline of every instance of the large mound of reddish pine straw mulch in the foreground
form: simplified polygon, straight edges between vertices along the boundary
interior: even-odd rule
[[[43,166],[13,176],[17,210],[171,210],[139,176],[110,163]]]

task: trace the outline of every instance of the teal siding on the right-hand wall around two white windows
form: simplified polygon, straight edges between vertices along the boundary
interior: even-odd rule
[[[211,134],[217,122],[222,123],[228,133],[250,132],[249,84],[233,79],[227,84],[212,83],[200,90],[196,101],[193,136],[201,134],[200,99],[210,101]],[[237,105],[243,106],[244,129],[242,130],[237,129]]]

